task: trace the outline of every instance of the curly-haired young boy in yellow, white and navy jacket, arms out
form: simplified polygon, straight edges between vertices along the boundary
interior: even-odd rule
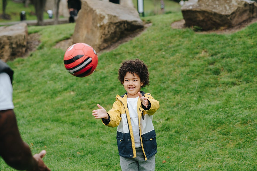
[[[140,91],[149,85],[147,66],[139,59],[123,61],[118,78],[127,93],[116,96],[108,113],[97,104],[99,109],[93,110],[92,115],[108,127],[117,127],[123,171],[153,171],[157,144],[152,115],[159,109],[159,102],[150,93]]]

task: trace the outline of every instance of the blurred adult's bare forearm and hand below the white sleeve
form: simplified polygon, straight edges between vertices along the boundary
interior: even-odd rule
[[[5,162],[17,170],[49,170],[40,154],[31,154],[31,150],[22,141],[13,109],[0,111],[0,155]]]

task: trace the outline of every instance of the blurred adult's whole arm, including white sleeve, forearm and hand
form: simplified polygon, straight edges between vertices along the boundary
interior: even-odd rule
[[[17,170],[49,171],[41,159],[45,151],[32,156],[28,144],[21,139],[13,111],[11,81],[6,73],[0,74],[0,107],[0,156],[3,160]]]

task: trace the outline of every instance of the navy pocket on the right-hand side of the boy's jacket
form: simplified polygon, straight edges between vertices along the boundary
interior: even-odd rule
[[[157,149],[156,134],[154,130],[141,136],[142,136],[142,141],[143,141],[142,143],[143,143],[144,149],[147,152],[155,151]]]

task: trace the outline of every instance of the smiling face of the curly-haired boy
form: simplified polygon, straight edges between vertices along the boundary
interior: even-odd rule
[[[141,86],[144,85],[144,83],[141,83],[139,76],[135,73],[133,74],[127,72],[123,80],[123,86],[128,93],[128,98],[138,97],[138,92]]]

